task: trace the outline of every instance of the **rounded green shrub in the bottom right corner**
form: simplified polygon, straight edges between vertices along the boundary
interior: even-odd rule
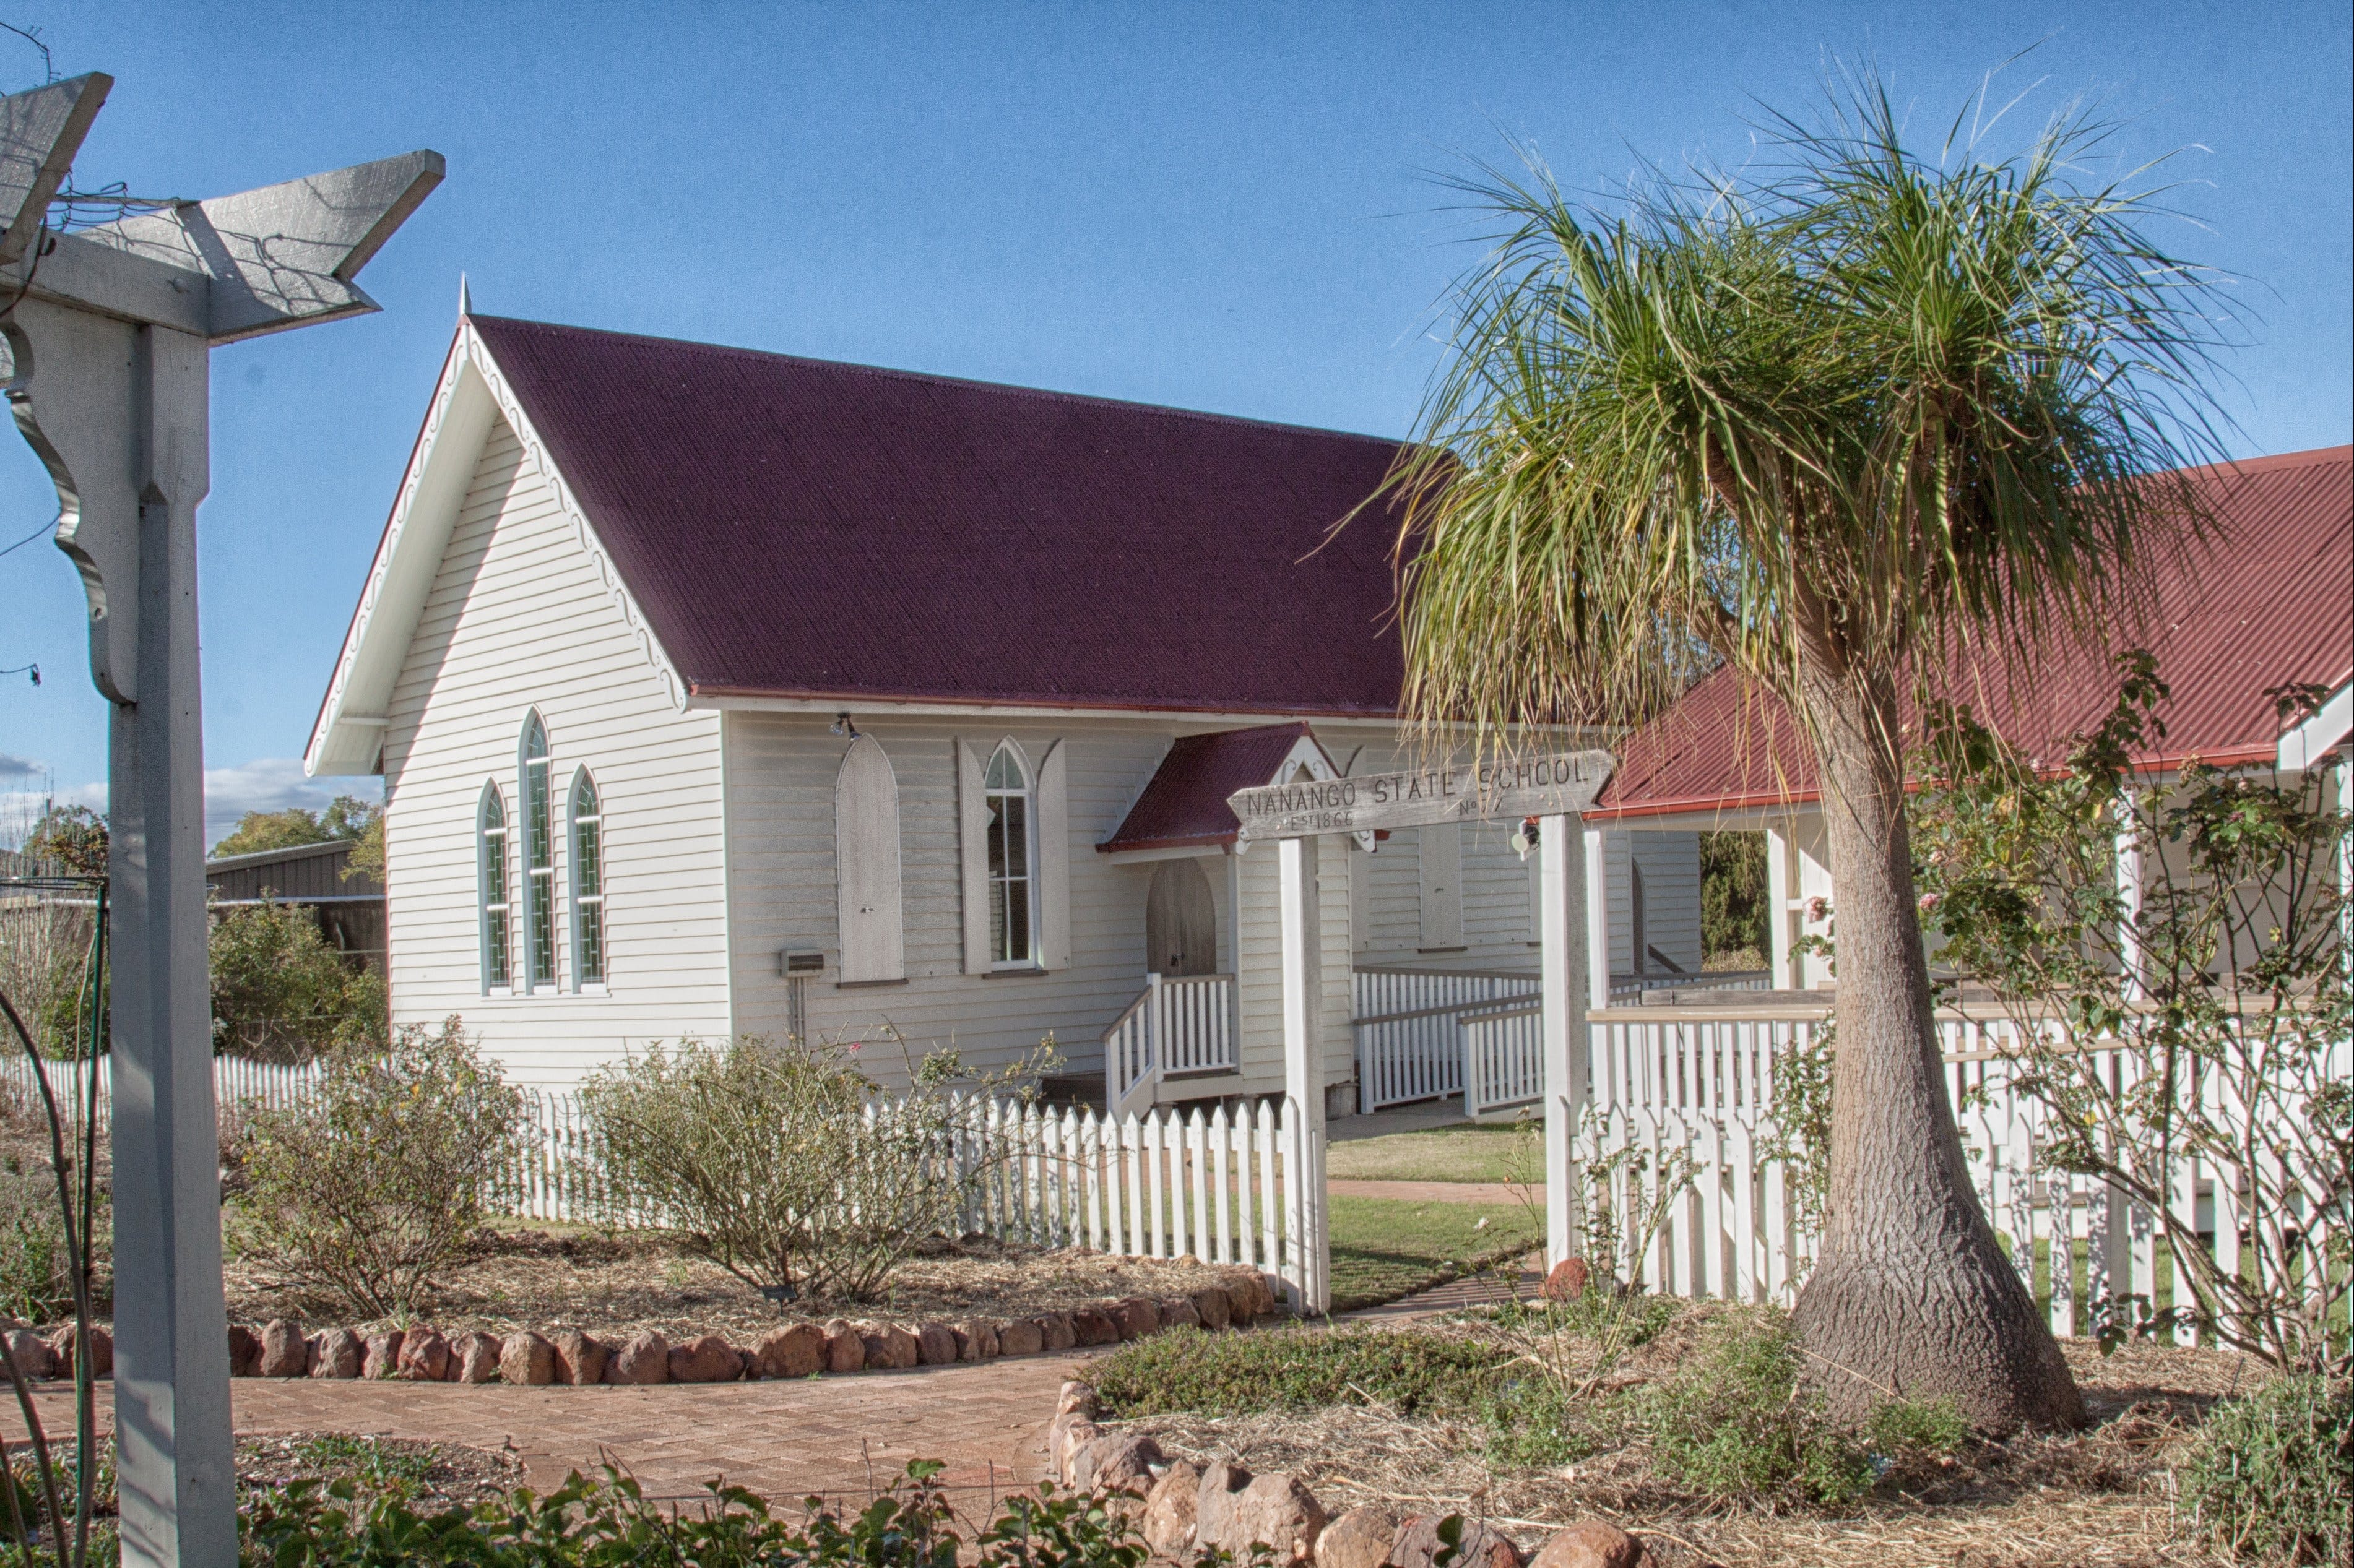
[[[2227,1556],[2354,1561],[2354,1384],[2290,1375],[2220,1403],[2175,1483]]]

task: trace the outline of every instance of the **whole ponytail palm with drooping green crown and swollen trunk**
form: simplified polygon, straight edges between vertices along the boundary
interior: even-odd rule
[[[1831,1187],[1798,1300],[1834,1410],[1951,1398],[1982,1431],[2083,1415],[1980,1212],[1940,1071],[1902,706],[1956,657],[2130,622],[2196,532],[2215,337],[2147,195],[2076,181],[2055,122],[1914,155],[1850,82],[1763,177],[1608,212],[1537,172],[1502,219],[1389,485],[1408,713],[1497,735],[1636,723],[1733,664],[1798,720],[1838,918]]]

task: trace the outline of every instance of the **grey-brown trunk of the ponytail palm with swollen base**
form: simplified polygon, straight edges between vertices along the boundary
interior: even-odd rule
[[[1808,1382],[1850,1420],[1888,1398],[1949,1398],[1984,1434],[2076,1427],[2083,1398],[1977,1205],[1944,1092],[1895,683],[1806,659],[1801,697],[1838,928],[1831,1191],[1796,1309]]]

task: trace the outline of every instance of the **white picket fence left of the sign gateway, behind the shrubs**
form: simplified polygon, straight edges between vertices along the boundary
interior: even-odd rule
[[[99,1059],[99,1135],[113,1104]],[[59,1109],[75,1107],[78,1137],[89,1064],[49,1062]],[[320,1069],[214,1057],[221,1125],[247,1107],[292,1107],[320,1083]],[[0,1059],[0,1092],[40,1109],[24,1057]],[[607,1215],[596,1144],[579,1095],[525,1090],[523,1137],[511,1170],[492,1182],[497,1205],[516,1217],[591,1222]],[[869,1107],[873,1114],[876,1107]],[[970,1182],[965,1231],[1048,1248],[1085,1245],[1135,1257],[1255,1264],[1281,1281],[1297,1304],[1316,1257],[1302,1245],[1292,1208],[1304,1163],[1299,1130],[1271,1102],[1241,1107],[1163,1107],[1142,1116],[1104,1116],[1085,1107],[1036,1107],[975,1099],[949,1151]],[[1318,1203],[1311,1212],[1321,1215]]]

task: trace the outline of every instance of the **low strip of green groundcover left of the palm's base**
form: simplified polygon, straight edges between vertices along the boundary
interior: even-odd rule
[[[1476,1340],[1299,1326],[1250,1335],[1179,1328],[1123,1344],[1090,1370],[1095,1391],[1121,1417],[1363,1403],[1412,1415],[1476,1410],[1499,1387],[1504,1363],[1504,1351]]]

